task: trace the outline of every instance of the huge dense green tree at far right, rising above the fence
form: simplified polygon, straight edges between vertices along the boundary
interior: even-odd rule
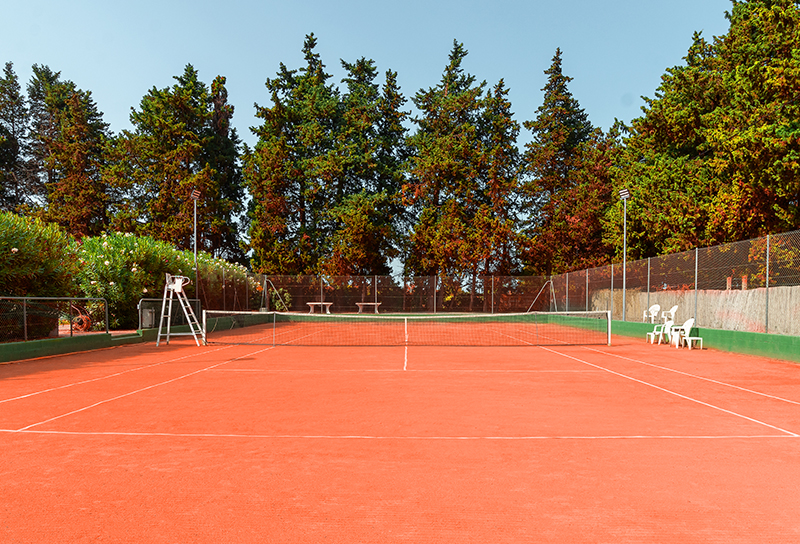
[[[629,187],[631,256],[755,238],[800,224],[800,8],[734,2],[728,32],[695,33],[632,122],[616,183]],[[621,214],[606,220],[621,247]]]

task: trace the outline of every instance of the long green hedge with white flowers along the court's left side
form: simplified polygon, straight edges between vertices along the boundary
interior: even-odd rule
[[[109,326],[133,329],[142,298],[161,298],[165,274],[188,276],[190,298],[210,309],[260,307],[262,286],[247,269],[148,236],[112,233],[76,242],[55,224],[0,213],[0,295],[85,296],[108,302]],[[90,309],[92,311],[92,309]]]

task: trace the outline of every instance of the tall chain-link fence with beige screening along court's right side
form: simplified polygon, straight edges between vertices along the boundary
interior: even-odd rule
[[[570,272],[553,287],[553,309],[642,321],[654,304],[678,306],[679,323],[800,336],[800,231]]]

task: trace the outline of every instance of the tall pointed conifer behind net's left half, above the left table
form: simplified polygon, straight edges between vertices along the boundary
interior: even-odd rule
[[[253,269],[267,274],[312,274],[328,254],[328,210],[345,192],[336,155],[339,95],[306,36],[306,64],[281,63],[266,86],[271,107],[257,107],[258,143],[245,156],[245,183],[253,197],[250,246]]]

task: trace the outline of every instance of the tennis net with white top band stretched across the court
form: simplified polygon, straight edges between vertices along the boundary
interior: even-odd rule
[[[597,312],[376,315],[203,311],[206,343],[285,346],[543,346],[611,343]]]

